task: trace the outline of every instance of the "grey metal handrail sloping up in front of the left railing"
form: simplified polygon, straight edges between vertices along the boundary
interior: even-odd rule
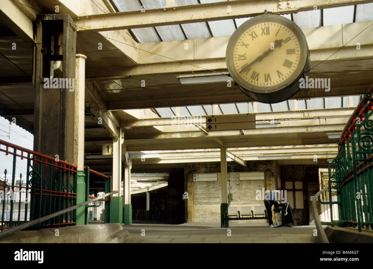
[[[71,207],[69,207],[69,208],[66,208],[66,209],[63,209],[63,210],[61,210],[61,211],[58,211],[58,212],[52,213],[52,214],[47,215],[47,216],[44,216],[44,217],[42,217],[42,218],[35,219],[35,220],[33,220],[33,221],[26,222],[26,223],[23,223],[23,224],[18,225],[18,226],[16,226],[16,227],[10,228],[10,229],[7,230],[7,231],[0,232],[0,238],[1,238],[1,237],[4,237],[4,236],[6,236],[6,235],[12,234],[13,232],[16,232],[16,231],[19,231],[19,230],[22,230],[22,229],[28,228],[28,227],[30,227],[30,226],[32,226],[32,225],[39,224],[39,223],[41,223],[41,222],[43,222],[43,221],[47,221],[48,219],[54,218],[54,217],[56,217],[56,216],[59,216],[59,215],[65,214],[65,213],[67,213],[67,212],[73,211],[73,210],[75,210],[75,209],[77,209],[77,208],[80,208],[81,206],[88,205],[88,204],[90,204],[90,203],[92,203],[92,202],[94,202],[94,201],[100,200],[100,199],[102,199],[103,197],[106,197],[106,196],[109,196],[109,195],[112,195],[112,194],[115,194],[115,193],[118,193],[118,191],[115,190],[115,191],[113,191],[113,192],[105,193],[105,194],[103,194],[103,195],[100,195],[100,196],[98,196],[98,197],[96,197],[96,198],[94,198],[94,199],[91,199],[91,200],[85,201],[85,202],[80,203],[80,204],[78,204],[78,205],[71,206]]]

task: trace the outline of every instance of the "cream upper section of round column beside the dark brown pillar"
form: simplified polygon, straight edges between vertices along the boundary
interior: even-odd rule
[[[74,113],[74,164],[84,170],[84,99],[85,99],[85,59],[76,54],[75,59],[75,113]]]

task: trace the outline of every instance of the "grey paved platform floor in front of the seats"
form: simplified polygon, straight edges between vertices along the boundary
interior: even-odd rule
[[[315,243],[315,226],[269,228],[267,224],[184,223],[123,225],[129,232],[124,243]],[[141,230],[145,230],[145,235]],[[231,236],[228,236],[228,229]]]

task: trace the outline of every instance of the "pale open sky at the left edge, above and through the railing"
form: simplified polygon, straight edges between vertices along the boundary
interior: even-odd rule
[[[0,117],[0,139],[15,145],[21,146],[32,150],[34,145],[34,136],[28,131],[18,127],[16,124],[10,126],[10,137],[9,137],[9,121],[3,117]],[[1,144],[1,143],[0,143]],[[0,149],[6,149],[6,146],[0,145]],[[9,148],[9,151],[13,149]],[[21,152],[18,151],[18,154]],[[26,154],[24,154],[26,155]],[[22,173],[22,179],[26,180],[26,159],[21,160],[17,157],[16,161],[16,175]],[[13,169],[13,155],[5,155],[3,151],[0,152],[0,177],[3,178],[4,170],[7,170],[7,180],[11,180],[12,169]]]

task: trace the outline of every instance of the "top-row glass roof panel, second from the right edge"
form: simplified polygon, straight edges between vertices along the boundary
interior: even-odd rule
[[[351,23],[354,19],[354,6],[324,9],[323,14],[324,26]]]

